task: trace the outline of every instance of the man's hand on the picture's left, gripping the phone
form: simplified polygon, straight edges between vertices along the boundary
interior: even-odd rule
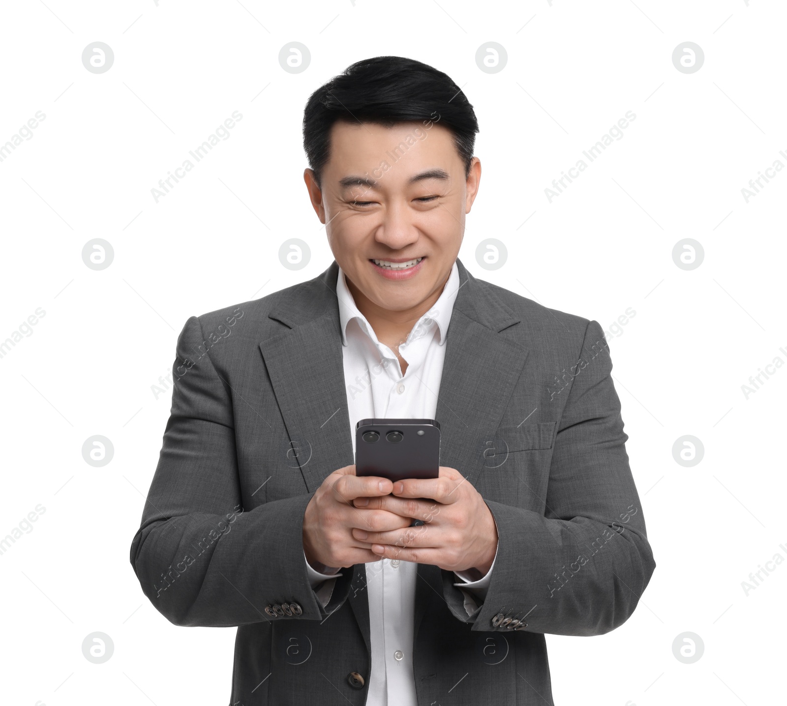
[[[389,531],[409,527],[410,518],[382,509],[360,509],[355,498],[390,495],[393,483],[378,476],[356,476],[355,465],[338,469],[317,488],[303,517],[303,551],[312,568],[318,564],[350,567],[379,561],[370,542],[353,537],[353,528]],[[318,568],[319,570],[319,568]]]

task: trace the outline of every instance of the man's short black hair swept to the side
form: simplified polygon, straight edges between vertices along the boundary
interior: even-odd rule
[[[449,75],[429,64],[372,57],[351,64],[312,93],[303,112],[303,146],[318,185],[331,156],[331,127],[338,120],[385,127],[406,120],[443,125],[453,134],[465,178],[470,174],[478,132],[473,106]]]

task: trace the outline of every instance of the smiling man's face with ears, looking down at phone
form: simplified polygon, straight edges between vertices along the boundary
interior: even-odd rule
[[[428,127],[427,127],[428,126]],[[445,285],[464,235],[481,164],[470,175],[438,123],[335,123],[312,205],[352,285],[389,311],[418,307]]]

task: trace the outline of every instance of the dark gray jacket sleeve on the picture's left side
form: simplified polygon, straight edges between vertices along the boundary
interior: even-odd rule
[[[178,338],[172,410],[131,542],[142,591],[176,625],[322,620],[346,598],[349,578],[337,579],[326,606],[316,600],[301,534],[312,493],[243,506],[234,391],[204,344],[191,317]],[[272,617],[265,610],[285,602],[301,614]]]

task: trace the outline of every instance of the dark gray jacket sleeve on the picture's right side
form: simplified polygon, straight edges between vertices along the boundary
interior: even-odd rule
[[[656,568],[597,322],[588,323],[571,370],[545,513],[486,501],[499,535],[486,599],[469,618],[456,595],[449,600],[454,616],[473,630],[506,629],[493,624],[502,614],[527,623],[519,629],[529,632],[606,633],[628,620]]]

